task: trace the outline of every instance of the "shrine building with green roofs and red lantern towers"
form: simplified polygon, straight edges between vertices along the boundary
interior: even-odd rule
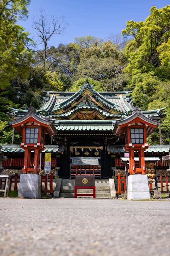
[[[13,164],[23,173],[41,173],[48,152],[52,169],[63,179],[77,174],[111,178],[117,169],[124,169],[124,153],[129,153],[129,173],[143,174],[145,157],[156,162],[157,156],[168,152],[169,145],[149,147],[146,141],[159,127],[162,144],[160,122],[165,108],[142,111],[134,107],[132,91],[97,92],[87,80],[78,92],[44,93],[39,110],[9,108],[9,123],[22,134],[22,143],[2,145],[2,149],[8,159],[23,159]],[[5,165],[10,168],[10,161]]]

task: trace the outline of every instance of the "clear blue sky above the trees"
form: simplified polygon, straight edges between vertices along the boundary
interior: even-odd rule
[[[69,24],[64,35],[54,35],[50,45],[68,44],[75,37],[93,35],[107,39],[111,33],[121,33],[126,27],[126,21],[145,20],[150,14],[150,8],[162,8],[169,4],[167,0],[32,0],[28,6],[29,18],[18,24],[29,31],[30,38],[36,35],[32,28],[33,16],[39,15],[44,9],[47,16],[65,16]],[[35,39],[35,38],[34,38]]]

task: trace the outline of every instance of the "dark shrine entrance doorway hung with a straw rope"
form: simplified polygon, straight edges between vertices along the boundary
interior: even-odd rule
[[[60,177],[73,178],[76,171],[83,175],[94,173],[97,179],[112,177],[111,155],[106,152],[104,139],[103,137],[68,138],[67,151],[60,157]],[[81,165],[78,160],[81,161]],[[71,169],[73,175],[70,175]]]

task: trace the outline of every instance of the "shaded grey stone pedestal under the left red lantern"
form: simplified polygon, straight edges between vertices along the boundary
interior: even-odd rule
[[[18,197],[41,198],[41,176],[38,174],[21,174]]]

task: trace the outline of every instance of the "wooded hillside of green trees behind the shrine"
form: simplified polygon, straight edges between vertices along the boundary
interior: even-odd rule
[[[43,90],[77,91],[86,78],[98,91],[132,90],[134,104],[142,110],[166,107],[161,124],[164,144],[170,144],[170,5],[157,9],[141,22],[129,20],[120,34],[108,40],[93,35],[77,37],[67,45],[49,46],[54,34],[64,33],[66,23],[51,17],[48,27],[43,11],[34,20],[36,38],[18,24],[27,19],[30,0],[0,1],[0,144],[11,144],[7,106],[39,108]],[[14,144],[21,142],[16,132]],[[159,144],[158,130],[148,138]]]

